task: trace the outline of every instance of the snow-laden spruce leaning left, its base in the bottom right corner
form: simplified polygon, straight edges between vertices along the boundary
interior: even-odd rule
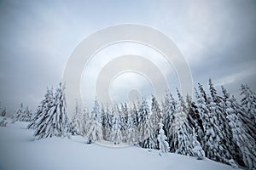
[[[234,152],[232,152],[233,159],[241,166],[248,168],[255,168],[256,158],[256,144],[253,136],[248,131],[247,114],[238,105],[236,98],[230,96],[227,90],[222,87],[224,94],[224,101],[227,112],[227,119],[232,132],[232,142],[236,144]]]

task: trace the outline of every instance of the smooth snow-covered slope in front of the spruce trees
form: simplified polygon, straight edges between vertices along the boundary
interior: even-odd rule
[[[1,117],[2,120],[3,117]],[[1,121],[0,120],[0,121]],[[101,144],[85,144],[80,136],[34,140],[26,122],[0,127],[1,170],[222,170],[228,165],[190,156],[145,150],[136,146],[113,148]]]

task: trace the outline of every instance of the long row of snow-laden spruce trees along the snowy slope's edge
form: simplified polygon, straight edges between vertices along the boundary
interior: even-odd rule
[[[28,128],[38,139],[82,135],[88,143],[137,144],[147,149],[185,156],[206,156],[232,166],[256,167],[256,94],[241,84],[241,102],[223,86],[218,94],[212,80],[201,83],[195,98],[166,91],[164,99],[139,99],[132,106],[102,105],[91,111],[78,104],[73,117],[66,111],[64,88],[48,88]],[[19,110],[16,114],[18,114]],[[26,111],[23,112],[26,114]],[[15,115],[16,115],[15,114]],[[16,117],[16,116],[14,116]]]

